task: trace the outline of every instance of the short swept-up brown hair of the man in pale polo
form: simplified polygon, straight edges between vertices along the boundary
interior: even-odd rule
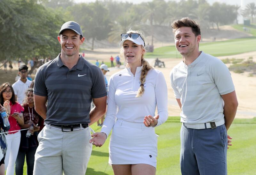
[[[201,35],[199,24],[188,17],[173,21],[171,27],[173,33],[175,33],[176,30],[180,27],[191,27],[192,32],[195,34],[195,36]]]

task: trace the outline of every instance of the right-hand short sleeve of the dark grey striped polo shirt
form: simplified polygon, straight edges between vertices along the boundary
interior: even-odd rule
[[[105,77],[99,67],[93,70],[92,98],[100,98],[107,95]]]

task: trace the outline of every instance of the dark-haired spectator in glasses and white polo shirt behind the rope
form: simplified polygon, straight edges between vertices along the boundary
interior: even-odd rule
[[[19,67],[19,75],[20,78],[15,83],[13,83],[12,88],[14,90],[15,99],[22,104],[24,98],[25,98],[25,92],[28,90],[31,81],[28,80],[28,66],[26,65],[20,65]]]

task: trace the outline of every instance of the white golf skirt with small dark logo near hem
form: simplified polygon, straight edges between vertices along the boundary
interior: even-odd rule
[[[156,168],[157,135],[153,127],[118,119],[109,143],[109,164],[149,164]]]

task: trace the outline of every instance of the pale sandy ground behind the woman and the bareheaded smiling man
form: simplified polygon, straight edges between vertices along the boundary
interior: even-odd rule
[[[224,58],[244,58],[247,59],[248,57],[253,57],[256,59],[256,52],[248,52],[244,54],[232,55],[232,56],[225,56],[219,57],[221,59]],[[148,59],[151,65],[154,65],[154,59]],[[180,115],[180,108],[174,98],[174,94],[170,85],[170,78],[169,74],[172,68],[177,65],[181,59],[179,58],[170,58],[170,59],[163,59],[165,63],[165,68],[156,68],[164,73],[164,77],[168,87],[168,112],[169,116],[179,116]],[[122,66],[124,68],[124,66]],[[110,68],[110,72],[107,73],[108,78],[115,72],[120,71],[120,69]],[[236,113],[236,118],[253,118],[256,117],[256,107],[255,107],[255,100],[256,100],[256,76],[248,77],[248,73],[234,73],[231,72],[231,76],[236,88],[236,95],[238,99],[238,109]]]

